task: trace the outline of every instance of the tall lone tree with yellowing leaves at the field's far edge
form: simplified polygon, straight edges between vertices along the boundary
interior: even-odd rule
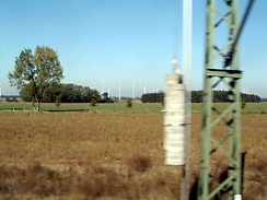
[[[25,86],[30,90],[28,95],[33,103],[39,103],[44,94],[57,85],[63,78],[63,69],[58,60],[57,51],[48,46],[36,46],[35,54],[30,48],[21,51],[15,58],[15,66],[8,74],[11,86],[22,90]]]

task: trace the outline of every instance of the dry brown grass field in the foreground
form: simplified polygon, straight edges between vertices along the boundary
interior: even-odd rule
[[[193,113],[191,185],[201,114]],[[161,113],[0,111],[0,199],[179,199]],[[227,129],[221,125],[219,137]],[[242,115],[243,199],[267,197],[267,115]],[[218,155],[214,172],[223,169]]]

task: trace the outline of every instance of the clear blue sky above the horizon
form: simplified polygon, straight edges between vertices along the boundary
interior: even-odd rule
[[[177,56],[182,66],[182,0]],[[240,15],[248,0],[240,0]],[[18,94],[8,72],[24,48],[47,45],[58,51],[63,83],[118,95],[164,91],[172,72],[175,0],[0,0],[2,95]],[[267,1],[256,0],[240,39],[242,91],[267,97]],[[202,90],[206,0],[193,0],[193,90]],[[219,35],[220,36],[220,35]],[[220,38],[220,37],[219,37]]]

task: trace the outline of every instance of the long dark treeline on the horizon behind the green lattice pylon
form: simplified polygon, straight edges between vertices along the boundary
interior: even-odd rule
[[[191,103],[202,103],[202,91],[193,91],[191,92]],[[142,103],[162,103],[164,98],[164,93],[148,93],[141,96]],[[260,97],[254,94],[243,94],[241,93],[241,101],[244,102],[260,102]],[[228,91],[213,91],[213,102],[216,103],[228,103],[229,92]]]

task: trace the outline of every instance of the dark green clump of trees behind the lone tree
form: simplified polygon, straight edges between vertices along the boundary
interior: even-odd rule
[[[32,102],[32,87],[31,85],[24,86],[21,90],[20,96],[25,102]],[[107,93],[102,96],[96,90],[89,86],[76,85],[76,84],[58,84],[48,86],[42,96],[42,103],[90,103],[92,99],[100,103],[113,103]]]

